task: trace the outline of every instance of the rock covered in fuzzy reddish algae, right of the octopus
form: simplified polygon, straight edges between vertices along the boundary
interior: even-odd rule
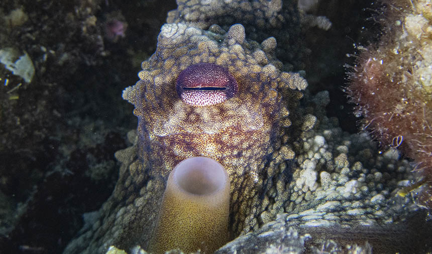
[[[363,128],[415,161],[418,205],[432,208],[432,8],[425,0],[387,6],[383,36],[362,49],[347,92]]]

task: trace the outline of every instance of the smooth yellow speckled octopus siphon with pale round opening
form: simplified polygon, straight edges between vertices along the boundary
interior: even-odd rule
[[[229,210],[230,179],[224,166],[207,157],[181,161],[169,174],[149,251],[214,252],[228,240]]]

